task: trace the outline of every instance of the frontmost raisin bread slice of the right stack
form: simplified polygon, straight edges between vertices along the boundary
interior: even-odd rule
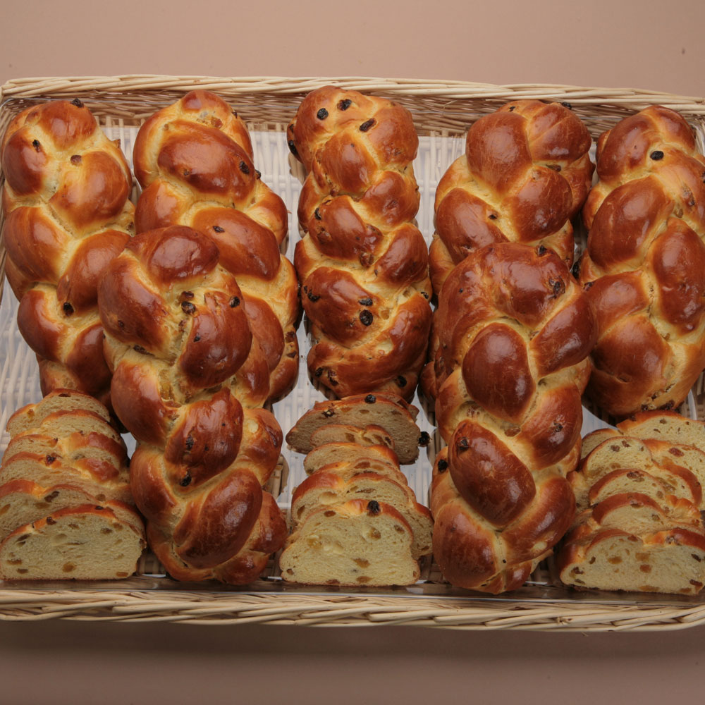
[[[566,585],[599,590],[698,594],[705,584],[705,535],[675,528],[642,537],[593,524],[556,558]]]

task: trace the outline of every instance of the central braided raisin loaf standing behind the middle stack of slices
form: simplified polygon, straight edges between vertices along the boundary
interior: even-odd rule
[[[308,172],[294,264],[312,335],[309,372],[338,397],[387,391],[409,400],[431,324],[428,250],[413,224],[411,116],[324,87],[303,100],[287,135]]]

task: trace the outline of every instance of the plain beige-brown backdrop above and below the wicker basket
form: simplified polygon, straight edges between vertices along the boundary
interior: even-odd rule
[[[0,82],[367,75],[705,95],[703,0],[29,0]],[[705,689],[705,627],[658,633],[0,623],[0,704],[663,703]],[[702,695],[700,695],[702,697]]]

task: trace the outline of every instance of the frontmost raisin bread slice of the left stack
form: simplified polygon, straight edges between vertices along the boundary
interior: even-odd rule
[[[0,543],[3,580],[116,580],[133,575],[145,547],[139,523],[109,507],[61,509]]]

